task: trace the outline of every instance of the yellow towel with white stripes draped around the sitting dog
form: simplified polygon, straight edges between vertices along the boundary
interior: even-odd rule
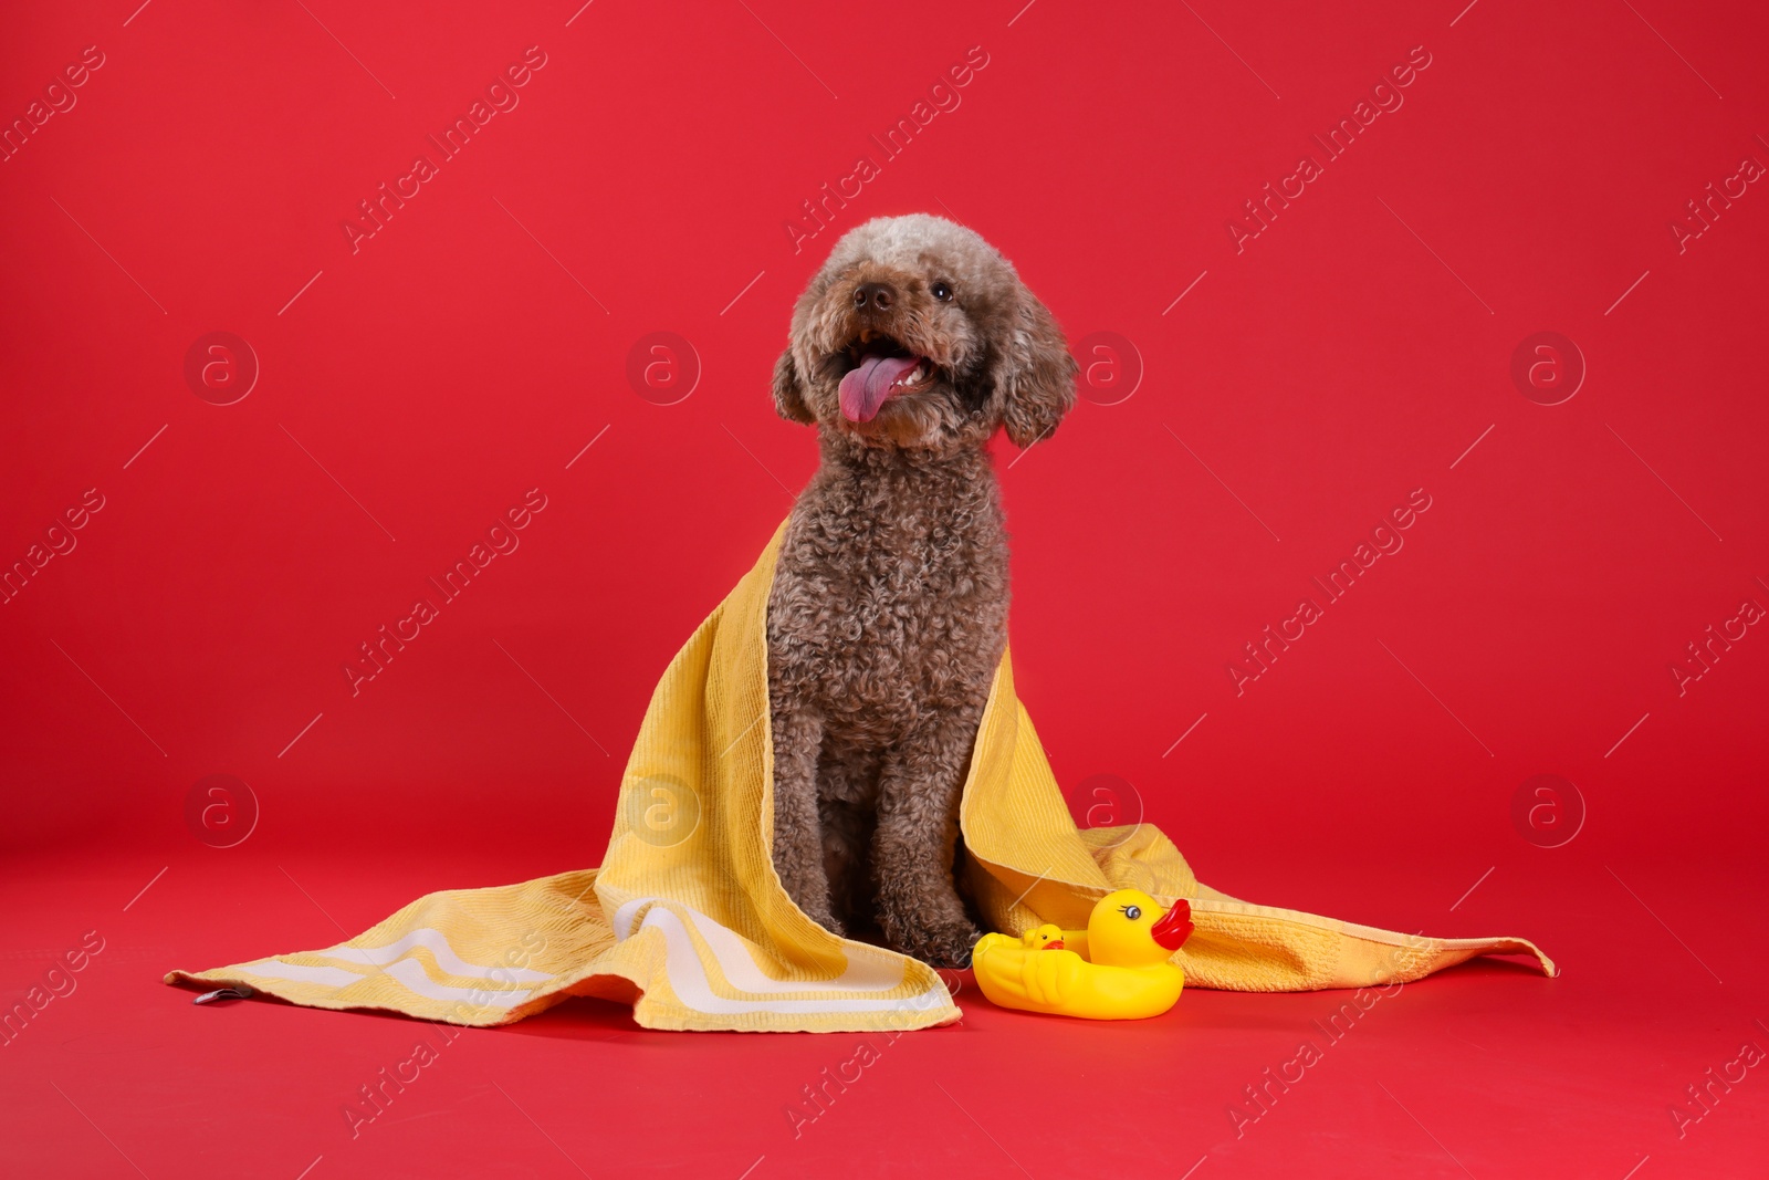
[[[907,1030],[959,1019],[941,977],[847,941],[800,913],[775,876],[768,725],[768,589],[784,525],[670,662],[621,782],[601,869],[448,890],[325,950],[173,982],[246,985],[315,1008],[387,1008],[508,1024],[568,996],[633,1005],[646,1028]],[[1077,830],[1001,656],[961,812],[966,877],[992,929],[1081,929],[1104,893],[1136,886],[1192,904],[1176,952],[1194,985],[1366,987],[1421,978],[1520,938],[1438,939],[1235,900],[1198,883],[1153,826]]]

